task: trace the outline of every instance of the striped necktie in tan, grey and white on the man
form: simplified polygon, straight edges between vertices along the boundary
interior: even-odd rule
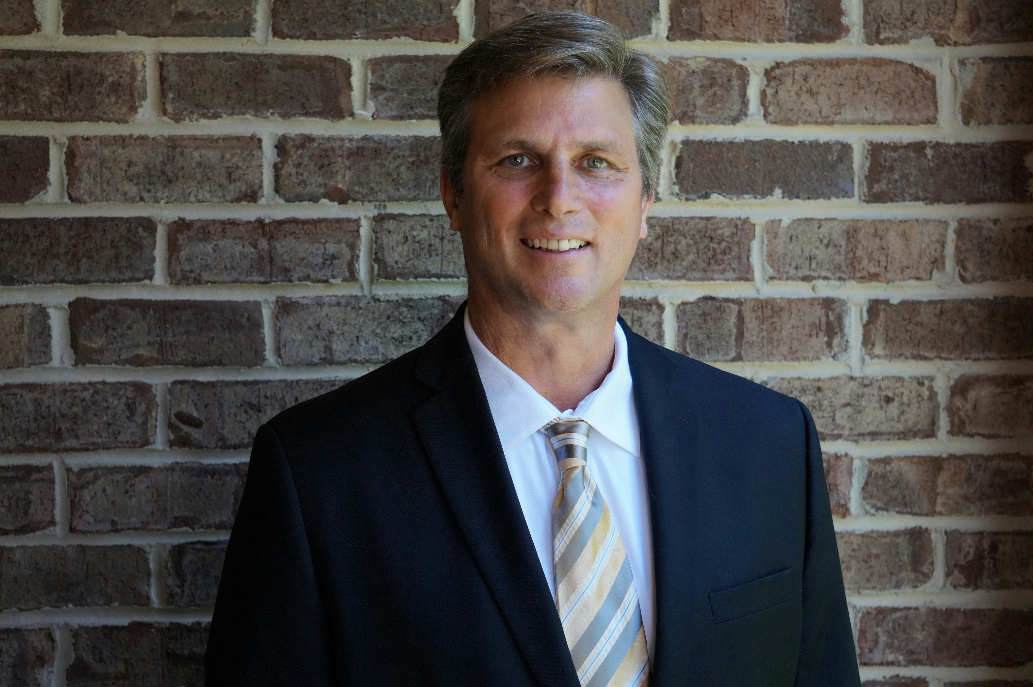
[[[589,470],[591,427],[557,418],[545,433],[562,475],[553,510],[556,606],[583,687],[645,687],[649,654],[617,522]]]

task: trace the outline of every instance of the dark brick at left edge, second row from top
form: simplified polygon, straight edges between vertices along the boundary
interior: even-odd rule
[[[0,51],[0,120],[129,122],[146,97],[143,53]]]

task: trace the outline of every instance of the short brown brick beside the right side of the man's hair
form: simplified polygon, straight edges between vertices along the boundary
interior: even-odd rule
[[[733,60],[669,58],[660,69],[678,124],[735,124],[747,113],[750,70]]]

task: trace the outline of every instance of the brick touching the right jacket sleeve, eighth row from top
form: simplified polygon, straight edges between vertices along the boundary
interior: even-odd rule
[[[836,544],[847,589],[914,589],[933,578],[933,537],[928,529],[838,532]]]

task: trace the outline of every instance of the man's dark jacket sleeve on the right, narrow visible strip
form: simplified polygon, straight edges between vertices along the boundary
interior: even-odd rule
[[[858,687],[857,656],[843,590],[821,445],[803,403],[807,433],[807,533],[804,551],[803,631],[796,687]]]

